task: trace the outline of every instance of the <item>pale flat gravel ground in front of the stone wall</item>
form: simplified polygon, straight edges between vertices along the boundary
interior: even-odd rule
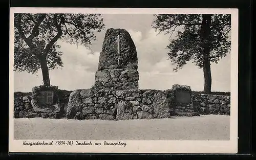
[[[151,120],[14,119],[16,140],[229,140],[230,116]]]

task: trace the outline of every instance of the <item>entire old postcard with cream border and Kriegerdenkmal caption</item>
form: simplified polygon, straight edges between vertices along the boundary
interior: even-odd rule
[[[238,10],[10,8],[10,152],[237,153]]]

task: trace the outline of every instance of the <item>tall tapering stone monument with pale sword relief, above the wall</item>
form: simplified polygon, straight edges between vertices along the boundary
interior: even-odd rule
[[[136,89],[139,73],[135,44],[124,29],[108,29],[99,56],[94,89]]]

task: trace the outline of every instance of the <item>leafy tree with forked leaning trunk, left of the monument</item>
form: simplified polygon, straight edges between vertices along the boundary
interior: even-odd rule
[[[100,14],[14,14],[14,71],[34,74],[41,68],[50,86],[49,70],[63,66],[56,41],[89,47],[94,30],[104,27]]]

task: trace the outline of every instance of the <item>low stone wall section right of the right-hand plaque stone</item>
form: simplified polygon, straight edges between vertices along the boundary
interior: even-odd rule
[[[230,115],[230,96],[194,94],[194,110],[202,115]]]

